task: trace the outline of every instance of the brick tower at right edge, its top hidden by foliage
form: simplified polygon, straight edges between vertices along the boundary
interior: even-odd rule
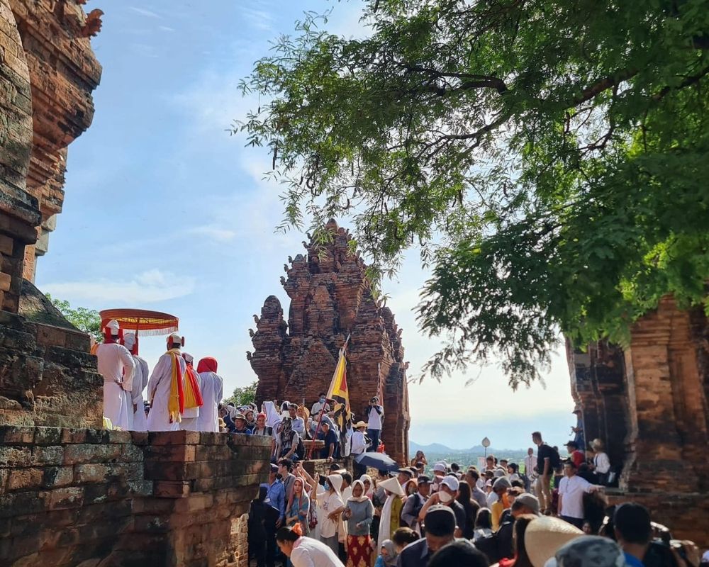
[[[676,536],[709,545],[709,325],[671,297],[638,320],[626,349],[567,348],[586,441],[603,439],[626,498]]]

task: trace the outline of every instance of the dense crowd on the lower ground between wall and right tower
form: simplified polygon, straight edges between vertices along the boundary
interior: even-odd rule
[[[422,451],[359,478],[337,461],[320,476],[279,459],[252,503],[252,558],[257,567],[279,556],[294,567],[700,565],[696,546],[671,541],[641,505],[608,507],[598,443],[579,464],[575,442],[562,458],[540,432],[532,440],[536,454],[524,463],[489,455],[462,470],[440,461],[430,476]]]

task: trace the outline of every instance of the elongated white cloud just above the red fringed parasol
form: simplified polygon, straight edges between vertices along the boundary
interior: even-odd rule
[[[120,274],[120,271],[116,271]],[[187,296],[194,291],[195,279],[169,271],[151,269],[132,279],[98,278],[84,281],[48,283],[43,288],[55,297],[82,303],[155,303]]]

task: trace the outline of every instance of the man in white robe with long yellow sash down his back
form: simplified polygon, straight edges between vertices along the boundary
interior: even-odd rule
[[[178,394],[173,375],[177,371],[179,380],[184,380],[186,364],[180,356],[182,337],[172,333],[167,337],[167,348],[168,351],[160,357],[155,368],[152,369],[150,381],[147,383],[147,399],[150,400],[150,413],[147,415],[148,431],[179,431],[179,400],[174,399]],[[184,399],[182,403],[184,407]],[[176,407],[177,412],[175,412]]]

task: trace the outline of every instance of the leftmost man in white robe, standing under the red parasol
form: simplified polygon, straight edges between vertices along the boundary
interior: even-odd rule
[[[96,349],[96,358],[99,374],[104,376],[104,416],[111,420],[113,427],[128,430],[132,421],[128,414],[130,396],[123,387],[130,388],[135,361],[128,349],[118,344],[120,331],[118,321],[108,322],[104,329],[105,342]]]

